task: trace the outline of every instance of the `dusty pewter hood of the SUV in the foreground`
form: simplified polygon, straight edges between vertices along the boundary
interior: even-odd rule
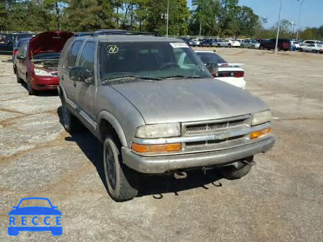
[[[258,97],[216,79],[143,81],[113,88],[138,109],[146,124],[218,119],[267,109]]]

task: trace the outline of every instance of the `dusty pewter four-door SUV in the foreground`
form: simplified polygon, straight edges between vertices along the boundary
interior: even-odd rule
[[[186,169],[217,166],[239,178],[274,144],[268,107],[213,79],[179,39],[71,38],[59,77],[64,127],[73,133],[81,122],[102,142],[107,191],[117,201],[137,195],[142,174],[185,178]]]

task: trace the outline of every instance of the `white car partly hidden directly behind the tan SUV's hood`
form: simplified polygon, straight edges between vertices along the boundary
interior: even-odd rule
[[[218,73],[212,73],[214,79],[218,79],[223,82],[227,82],[236,87],[244,89],[246,87],[246,82],[243,79],[244,70],[241,68],[243,64],[236,64],[225,61],[219,54],[212,51],[199,51],[196,50],[195,53],[202,60],[206,67],[209,67],[210,64],[218,64],[219,70]]]

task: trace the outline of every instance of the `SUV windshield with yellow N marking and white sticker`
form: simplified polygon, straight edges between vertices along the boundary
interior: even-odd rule
[[[183,42],[101,43],[100,79],[117,77],[211,78],[194,51]]]

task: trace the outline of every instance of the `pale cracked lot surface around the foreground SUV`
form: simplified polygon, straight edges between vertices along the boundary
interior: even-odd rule
[[[247,91],[271,107],[274,148],[240,180],[147,177],[124,203],[107,195],[96,139],[71,137],[57,93],[28,96],[0,56],[0,241],[323,241],[323,54],[216,49],[245,64]],[[8,212],[24,197],[58,206],[63,235],[9,236]]]

